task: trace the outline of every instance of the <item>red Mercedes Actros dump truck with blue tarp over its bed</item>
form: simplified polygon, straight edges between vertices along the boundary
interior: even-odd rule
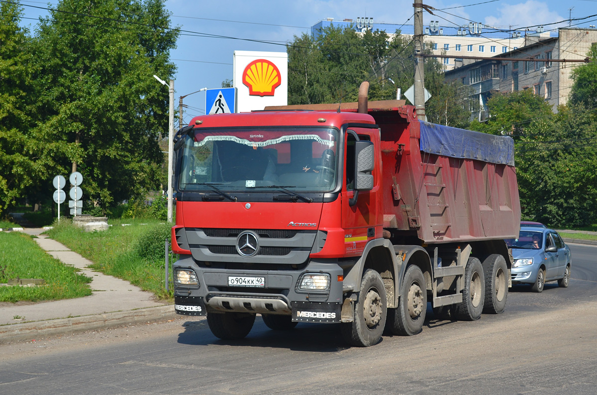
[[[216,337],[340,323],[415,335],[427,303],[506,305],[520,203],[513,141],[418,121],[404,101],[193,118],[174,138],[175,309]]]

